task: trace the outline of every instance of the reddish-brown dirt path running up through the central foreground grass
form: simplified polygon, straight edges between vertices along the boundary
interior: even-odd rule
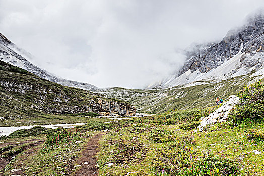
[[[81,165],[80,168],[71,174],[75,175],[98,175],[98,169],[96,165],[96,154],[99,151],[99,140],[105,133],[98,133],[93,136],[85,145],[84,151],[81,153],[81,157],[75,162],[74,165]],[[85,164],[87,162],[88,164]]]

